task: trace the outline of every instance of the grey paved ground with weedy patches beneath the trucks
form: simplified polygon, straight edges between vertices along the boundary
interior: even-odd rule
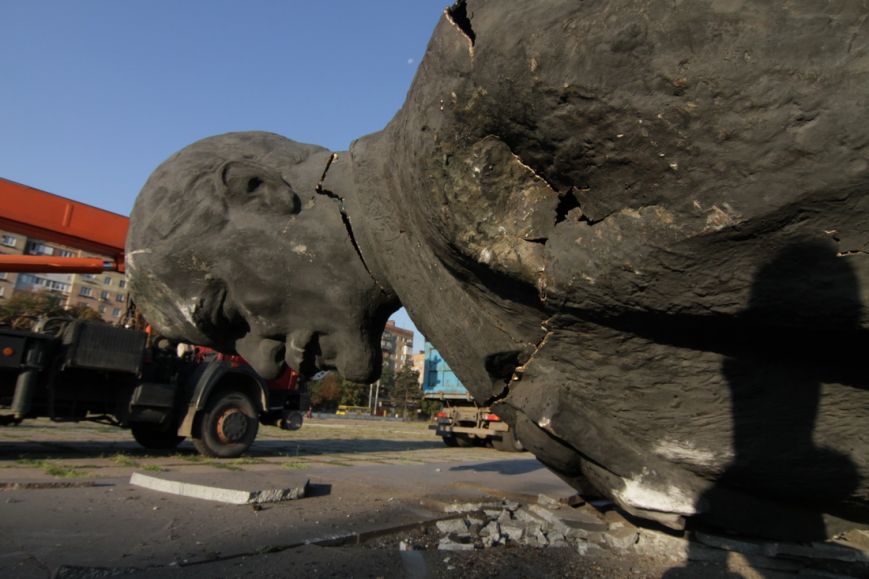
[[[216,485],[304,477],[310,492],[254,509],[132,486],[133,472]],[[0,429],[0,486],[0,575],[8,577],[295,574],[286,566],[304,567],[304,576],[449,575],[450,557],[437,551],[408,571],[408,555],[392,543],[424,533],[451,502],[573,492],[528,453],[448,448],[422,423],[338,418],[296,432],[265,427],[248,456],[231,460],[204,459],[189,443],[147,452],[111,426],[26,422]],[[330,540],[344,545],[314,546]],[[380,548],[346,544],[366,540]],[[576,556],[562,555],[559,575]],[[511,569],[515,562],[504,576]]]

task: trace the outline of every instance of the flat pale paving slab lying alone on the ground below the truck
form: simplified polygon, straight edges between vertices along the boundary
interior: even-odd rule
[[[130,484],[182,497],[229,505],[278,503],[305,496],[310,479],[291,472],[228,472],[219,479],[214,473],[134,472]]]

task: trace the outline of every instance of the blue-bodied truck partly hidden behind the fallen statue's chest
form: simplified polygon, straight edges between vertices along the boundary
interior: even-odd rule
[[[491,444],[504,452],[521,452],[522,442],[510,426],[487,406],[480,406],[443,357],[425,343],[422,382],[424,400],[438,400],[442,408],[432,417],[431,430],[447,446],[469,447]]]

